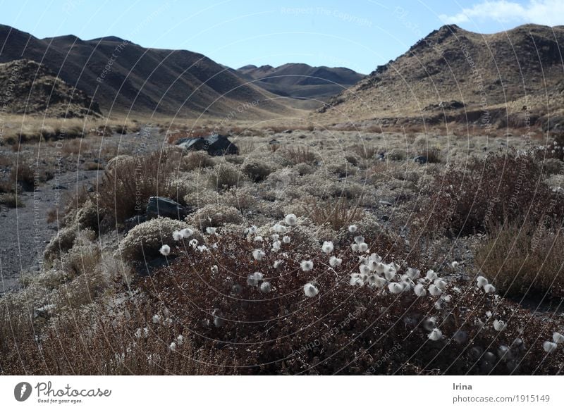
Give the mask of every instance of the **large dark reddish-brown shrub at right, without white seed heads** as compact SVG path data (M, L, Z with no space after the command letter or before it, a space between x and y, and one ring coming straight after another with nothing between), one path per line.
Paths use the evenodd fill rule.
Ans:
M560 194L543 181L541 165L530 155L510 152L470 159L465 168L449 165L430 185L431 195L419 209L415 231L467 235L487 232L506 220L520 222L527 213L533 223L544 212L564 216Z

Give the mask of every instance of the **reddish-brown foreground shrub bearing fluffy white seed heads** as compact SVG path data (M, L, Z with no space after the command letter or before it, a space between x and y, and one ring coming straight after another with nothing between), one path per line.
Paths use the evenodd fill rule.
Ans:
M266 249L269 244L262 246ZM540 325L541 321L472 286L463 287L460 294L451 293L450 287L446 290L452 294L450 304L465 309L436 311L433 297L398 297L367 286L350 286L350 272L358 266L350 247L335 250L343 265L334 271L326 268L326 255L305 255L299 249L289 249L288 254L267 251L261 261L250 263L257 244L240 235L219 237L218 247L209 252L188 250L171 266L143 280L141 289L153 306L150 311L167 306L173 323L197 335L198 347L228 349L233 354L241 367L225 368L223 374L233 370L254 375L559 371L559 361L542 360L544 351L537 339L548 339L552 329L544 326L535 328L534 334L521 334L522 322ZM300 269L300 260L305 258L314 263L312 271ZM283 263L273 268L275 260ZM247 275L256 271L263 274L260 282L270 283L271 292L247 284ZM312 299L303 290L310 281L319 289ZM495 311L496 318L510 318L510 328L496 332L491 327L493 318L486 315L489 310ZM434 315L444 337L437 342L429 340L424 325ZM478 318L489 322L486 328L474 325ZM460 343L451 339L457 331L466 335ZM498 359L496 353L493 362L482 358L488 349L497 352L498 345L510 346L515 337L522 337L529 350L515 348L510 363ZM386 360L380 360L384 354ZM563 351L554 354L561 357Z

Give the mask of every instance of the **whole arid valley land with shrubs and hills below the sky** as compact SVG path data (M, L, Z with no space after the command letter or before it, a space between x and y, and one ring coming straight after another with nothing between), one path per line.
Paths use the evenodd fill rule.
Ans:
M1 30L0 374L563 373L562 27L102 82Z

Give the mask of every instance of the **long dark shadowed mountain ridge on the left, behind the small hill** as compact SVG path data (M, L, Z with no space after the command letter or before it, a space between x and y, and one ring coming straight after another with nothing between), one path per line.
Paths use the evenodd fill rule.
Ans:
M234 112L237 118L263 118L295 112L235 70L190 51L147 49L118 37L37 39L6 25L0 25L0 44L0 63L37 61L90 95L104 115Z

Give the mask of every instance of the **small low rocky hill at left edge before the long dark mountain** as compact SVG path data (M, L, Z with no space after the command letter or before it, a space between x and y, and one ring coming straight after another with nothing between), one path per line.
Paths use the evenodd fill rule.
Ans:
M100 114L98 104L85 92L35 61L0 63L0 90L6 113L66 118Z

